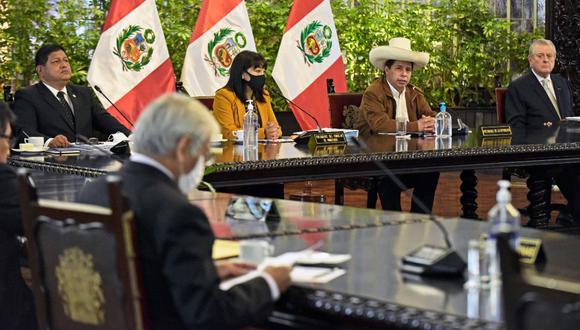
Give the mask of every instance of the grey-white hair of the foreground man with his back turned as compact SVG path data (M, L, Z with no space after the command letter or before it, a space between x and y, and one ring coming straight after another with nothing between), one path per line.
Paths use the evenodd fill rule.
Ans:
M203 104L184 95L170 94L157 98L141 114L133 131L133 147L149 156L167 156L175 150L179 139L188 136L193 155L217 133L219 126Z

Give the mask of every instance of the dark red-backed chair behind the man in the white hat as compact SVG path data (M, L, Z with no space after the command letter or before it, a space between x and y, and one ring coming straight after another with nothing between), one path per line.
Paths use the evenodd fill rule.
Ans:
M358 117L358 107L362 101L362 93L331 93L328 94L330 111L330 126L332 128L354 128ZM350 107L353 106L353 107ZM347 178L334 180L335 204L344 205L344 188L364 189L367 191L367 207L377 205L377 178Z

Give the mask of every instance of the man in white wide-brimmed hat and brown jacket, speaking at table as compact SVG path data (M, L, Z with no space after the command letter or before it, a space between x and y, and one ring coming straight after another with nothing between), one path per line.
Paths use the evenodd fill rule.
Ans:
M411 49L407 38L393 38L388 46L379 46L369 53L371 63L384 75L364 92L356 128L361 135L393 133L396 119L404 118L407 131L435 131L435 112L431 110L423 92L409 83L414 69L429 62L429 54ZM408 187L414 187L411 212L425 213L433 208L439 173L400 175ZM388 178L379 183L379 197L385 210L401 210L401 189ZM421 208L418 199L428 210Z

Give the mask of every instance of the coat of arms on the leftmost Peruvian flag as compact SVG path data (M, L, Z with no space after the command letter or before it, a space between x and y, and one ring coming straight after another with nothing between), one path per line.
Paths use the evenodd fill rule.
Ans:
M117 36L113 54L121 59L123 71L141 71L151 62L153 56L151 45L154 42L155 32L152 29L129 25Z

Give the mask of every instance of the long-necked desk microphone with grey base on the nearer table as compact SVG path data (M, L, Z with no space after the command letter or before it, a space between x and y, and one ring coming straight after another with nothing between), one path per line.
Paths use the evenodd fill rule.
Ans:
M358 138L352 138L351 140L357 147L369 151L366 143L362 142ZM423 211L425 214L429 215L429 220L431 220L437 228L443 234L443 239L445 240L446 248L438 247L433 245L423 245L416 250L413 250L408 255L403 257L403 265L401 270L407 273L413 273L417 275L461 275L466 267L465 261L461 256L453 249L453 244L451 244L451 239L449 238L449 232L443 224L437 220L437 218L432 214L432 212L425 206L422 200L415 197L413 194L408 192L408 187L382 162L373 159L373 163L386 174L392 182L394 182L397 187L401 189L411 200Z

